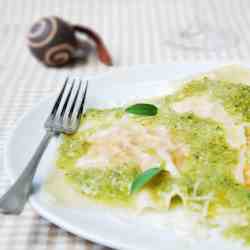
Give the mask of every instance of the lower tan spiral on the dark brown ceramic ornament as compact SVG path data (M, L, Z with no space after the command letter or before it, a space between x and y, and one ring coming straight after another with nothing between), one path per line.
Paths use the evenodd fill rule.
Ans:
M74 48L66 43L49 48L44 57L44 62L51 66L63 65L70 61Z

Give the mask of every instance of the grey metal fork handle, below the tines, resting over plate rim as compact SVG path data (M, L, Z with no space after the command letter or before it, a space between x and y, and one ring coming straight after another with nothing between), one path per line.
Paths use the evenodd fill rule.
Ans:
M40 142L34 155L27 166L10 187L10 189L0 198L0 212L8 214L20 214L29 198L32 190L32 181L36 173L38 164L47 148L50 139L55 135L52 131L47 131Z

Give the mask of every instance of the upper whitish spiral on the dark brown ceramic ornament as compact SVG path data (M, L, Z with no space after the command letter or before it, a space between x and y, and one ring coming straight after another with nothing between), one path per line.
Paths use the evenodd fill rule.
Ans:
M47 45L58 31L57 20L54 17L46 17L37 21L28 34L29 46L41 48Z

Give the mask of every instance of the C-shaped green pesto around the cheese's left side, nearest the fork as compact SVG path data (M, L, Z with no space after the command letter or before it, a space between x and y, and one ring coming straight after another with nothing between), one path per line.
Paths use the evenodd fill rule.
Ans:
M140 173L133 163L124 166L80 169L76 162L91 148L86 139L97 130L108 128L124 115L123 109L90 109L82 117L81 125L91 126L74 135L64 135L58 149L56 165L64 171L66 180L79 192L100 202L129 205L133 197L129 194L130 185Z

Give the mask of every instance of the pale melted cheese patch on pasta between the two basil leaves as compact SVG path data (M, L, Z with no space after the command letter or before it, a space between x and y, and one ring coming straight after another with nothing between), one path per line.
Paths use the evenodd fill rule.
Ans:
M89 152L77 161L79 168L107 167L113 163L119 165L134 162L145 171L165 162L170 173L178 174L170 151L180 148L180 145L171 142L170 135L163 126L147 129L124 116L112 126L98 130L87 140L92 146ZM183 145L181 147L186 151ZM157 150L150 153L153 148Z

